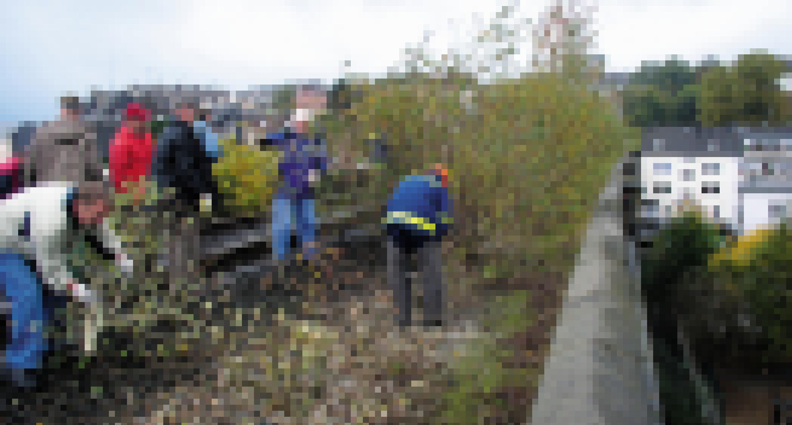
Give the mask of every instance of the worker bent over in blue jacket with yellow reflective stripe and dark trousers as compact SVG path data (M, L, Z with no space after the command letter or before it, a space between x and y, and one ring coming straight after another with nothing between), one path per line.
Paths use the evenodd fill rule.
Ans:
M418 256L423 274L424 325L443 325L443 263L441 241L451 226L448 173L435 164L424 175L407 176L386 204L388 281L401 327L411 324L409 257Z

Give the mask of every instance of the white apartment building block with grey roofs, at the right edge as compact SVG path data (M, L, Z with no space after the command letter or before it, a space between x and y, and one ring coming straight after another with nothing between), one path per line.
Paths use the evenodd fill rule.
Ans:
M792 128L658 127L642 137L649 230L687 200L738 233L792 216Z

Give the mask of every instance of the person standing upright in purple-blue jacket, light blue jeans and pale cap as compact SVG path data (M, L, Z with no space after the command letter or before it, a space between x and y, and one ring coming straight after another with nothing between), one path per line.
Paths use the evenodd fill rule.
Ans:
M268 142L283 152L279 173L283 184L272 199L272 258L285 260L291 248L291 230L296 227L303 245L303 259L317 254L315 188L327 169L326 146L308 134L314 115L324 108L326 95L318 85L301 85L291 128L268 135Z

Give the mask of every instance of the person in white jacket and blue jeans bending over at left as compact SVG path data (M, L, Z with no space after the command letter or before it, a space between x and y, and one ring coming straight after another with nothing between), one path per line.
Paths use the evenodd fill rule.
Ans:
M105 220L110 205L101 182L39 184L0 201L0 294L10 305L11 324L5 364L15 380L28 380L48 349L40 283L85 302L89 316L97 319L97 295L67 267L77 237L87 236L124 273L131 271L131 260ZM94 336L88 324L84 349L90 354Z

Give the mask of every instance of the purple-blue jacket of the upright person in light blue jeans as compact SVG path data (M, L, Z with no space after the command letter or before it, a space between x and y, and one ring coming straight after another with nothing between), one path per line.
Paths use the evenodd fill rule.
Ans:
M267 139L283 152L278 166L284 177L280 195L290 199L313 198L314 184L309 180L309 173L314 172L318 178L327 169L326 146L322 139L307 139L295 133L276 133L268 135Z

